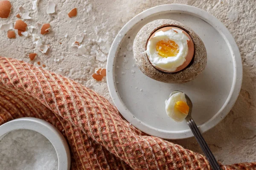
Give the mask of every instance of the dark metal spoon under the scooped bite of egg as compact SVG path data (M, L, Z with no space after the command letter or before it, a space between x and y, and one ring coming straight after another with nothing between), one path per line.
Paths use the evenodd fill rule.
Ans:
M182 91L173 91L170 96L172 96L173 94L179 93L179 92L183 93ZM216 161L215 157L213 156L209 146L205 142L197 125L195 124L194 120L191 117L191 112L192 112L192 107L193 107L192 102L189 99L189 96L187 96L186 94L185 94L185 97L186 97L187 105L189 106L189 114L188 114L188 116L186 116L186 121L187 121L192 133L194 134L195 139L197 140L198 144L200 145L201 149L203 150L204 155L207 157L210 165L212 166L212 169L213 170L221 170L221 167L219 166L219 164Z

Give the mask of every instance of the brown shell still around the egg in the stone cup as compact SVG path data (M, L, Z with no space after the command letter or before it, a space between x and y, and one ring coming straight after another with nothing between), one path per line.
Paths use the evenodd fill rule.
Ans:
M159 32L159 31L165 32L165 31L168 31L168 30L170 30L170 29L172 29L172 28L176 28L176 29L181 30L184 34L186 34L187 37L189 37L189 41L187 41L188 53L187 53L187 55L186 55L186 61L185 61L182 65L180 65L179 67L177 67L177 69L176 69L175 71L166 71L166 70L162 70L161 68L158 68L156 65L153 65L153 64L151 63L150 59L148 58L149 62L150 62L155 68L157 68L157 69L160 70L160 71L166 72L166 73L175 73L175 72L177 72L177 71L180 71L180 70L186 68L186 66L189 65L189 63L191 62L191 60L192 60L193 57L194 57L194 43L193 43L192 38L189 36L188 33L186 33L186 31L184 31L183 29L180 29L180 28L178 28L178 27L168 26L168 27L160 28L160 29L158 29L157 31L155 31L155 32L150 36L150 38L148 39L148 41L150 41L151 38L154 37L154 35L155 35L157 32ZM177 31L175 31L175 32L177 32ZM147 44L148 44L148 42L147 42Z

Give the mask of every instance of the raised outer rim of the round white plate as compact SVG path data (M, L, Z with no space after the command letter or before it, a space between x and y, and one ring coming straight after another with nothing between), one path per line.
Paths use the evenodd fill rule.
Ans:
M230 89L230 94L227 97L224 105L221 109L209 119L207 122L204 122L202 125L198 126L202 133L206 132L207 130L211 129L215 125L217 125L225 116L230 112L233 105L236 102L236 99L239 96L239 92L241 90L242 84L242 61L241 55L239 52L239 48L236 44L236 41L228 31L228 29L219 21L217 18L212 16L211 14L207 13L206 11L196 8L194 6L188 6L183 4L167 4L167 5L160 5L155 6L153 8L149 8L140 14L136 15L132 18L125 26L117 34L116 38L114 39L110 52L108 54L108 61L107 61L107 83L108 89L110 91L111 98L114 99L113 102L116 105L116 108L119 112L124 116L124 118L130 122L132 125L137 127L138 129L142 130L143 132L157 136L163 139L185 139L193 136L191 130L180 130L180 131L167 131L167 130L159 130L155 127L151 127L143 122L140 122L139 119L133 116L133 114L126 108L122 99L119 97L118 92L116 91L116 85L114 80L114 63L116 59L116 52L118 52L119 45L122 42L122 39L125 37L125 34L133 28L137 23L139 23L145 17L149 17L150 15L165 12L165 11L179 11L186 14L192 14L213 27L222 35L226 42L228 42L229 49L233 58L233 82L232 87ZM121 36L120 36L121 35Z

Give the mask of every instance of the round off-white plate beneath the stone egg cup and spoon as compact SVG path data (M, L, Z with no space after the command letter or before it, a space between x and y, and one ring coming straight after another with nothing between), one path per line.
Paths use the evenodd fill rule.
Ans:
M157 19L177 20L192 28L207 49L207 66L191 82L168 84L145 76L134 63L132 44L145 24ZM192 117L205 132L229 113L239 95L242 63L239 49L227 28L199 8L170 4L156 6L131 19L116 36L107 63L108 88L114 104L132 125L153 136L183 139L193 136L185 121L166 115L164 101L174 90L193 102Z

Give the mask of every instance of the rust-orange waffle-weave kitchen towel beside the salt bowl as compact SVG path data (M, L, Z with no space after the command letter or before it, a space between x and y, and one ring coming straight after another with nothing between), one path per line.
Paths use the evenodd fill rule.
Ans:
M51 123L70 145L72 170L209 170L207 159L130 125L107 99L60 75L0 57L0 125L20 117ZM256 170L256 163L221 165Z

